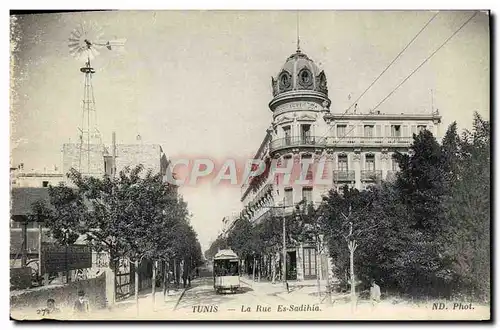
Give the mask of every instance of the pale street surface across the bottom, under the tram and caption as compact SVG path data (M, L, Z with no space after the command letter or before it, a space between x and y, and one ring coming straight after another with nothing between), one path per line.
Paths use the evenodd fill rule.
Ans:
M490 316L487 305L473 305L472 310L455 309L453 302L447 310L435 310L434 301L402 301L388 297L376 307L359 300L355 311L348 300L334 296L318 299L312 283L292 283L287 293L282 283L253 282L242 277L241 288L234 294L216 294L212 277L192 281L192 287L172 291L164 300L157 293L153 305L151 294L139 297L139 314L133 297L111 309L94 310L85 319L93 320L484 320ZM323 286L324 288L324 286ZM182 293L184 292L184 293ZM321 301L321 302L320 302ZM65 313L65 311L67 313ZM16 319L40 319L36 310L12 311ZM52 315L51 315L52 316ZM64 310L56 319L72 319Z

